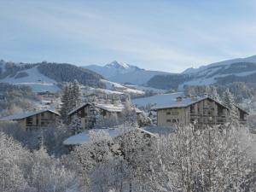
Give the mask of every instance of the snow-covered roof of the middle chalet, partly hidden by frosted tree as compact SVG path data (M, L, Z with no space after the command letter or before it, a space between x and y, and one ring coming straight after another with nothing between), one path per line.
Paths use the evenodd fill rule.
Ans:
M92 105L92 103L90 102L84 103L82 106L78 108L74 108L71 112L68 113L68 115L75 113L77 110L79 110L80 108L84 108L86 105ZM110 113L119 113L119 112L122 112L123 109L125 108L123 104L95 104L95 107L101 108L102 110L106 110ZM132 108L132 109L135 109L136 113L143 113L138 108Z

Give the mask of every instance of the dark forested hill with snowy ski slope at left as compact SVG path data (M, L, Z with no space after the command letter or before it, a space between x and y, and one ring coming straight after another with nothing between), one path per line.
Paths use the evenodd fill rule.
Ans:
M105 88L102 76L82 67L67 63L41 62L35 64L0 61L0 83L24 84L35 92L59 91L58 84L78 80L96 88Z

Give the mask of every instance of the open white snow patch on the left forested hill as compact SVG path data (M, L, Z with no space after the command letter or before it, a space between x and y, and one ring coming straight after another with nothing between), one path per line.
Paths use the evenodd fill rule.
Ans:
M7 77L5 79L0 79L0 82L9 84L28 85L32 88L34 92L57 92L60 90L60 88L57 86L56 81L53 79L49 79L42 73L39 73L37 67L22 70L21 72L27 73L28 76L18 79L15 79L15 77Z

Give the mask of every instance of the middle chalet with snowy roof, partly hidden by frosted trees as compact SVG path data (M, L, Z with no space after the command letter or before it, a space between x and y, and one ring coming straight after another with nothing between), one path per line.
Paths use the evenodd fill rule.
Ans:
M81 119L81 126L83 128L93 128L96 122L96 115L100 115L102 118L111 119L113 117L121 119L121 112L124 110L125 106L123 104L94 104L94 103L84 103L79 108L73 109L68 113L69 122L71 122L75 116ZM137 108L132 108L135 113L143 113ZM96 114L96 110L99 112Z

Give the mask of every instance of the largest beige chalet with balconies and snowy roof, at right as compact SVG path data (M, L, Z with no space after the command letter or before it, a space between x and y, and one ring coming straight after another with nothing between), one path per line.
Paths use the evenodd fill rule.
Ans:
M223 125L227 122L230 109L208 97L178 96L168 106L154 108L157 111L157 125ZM244 122L246 112L239 108L238 119Z

